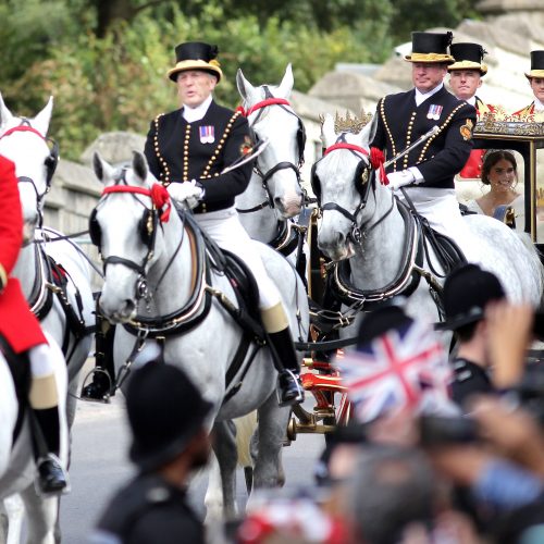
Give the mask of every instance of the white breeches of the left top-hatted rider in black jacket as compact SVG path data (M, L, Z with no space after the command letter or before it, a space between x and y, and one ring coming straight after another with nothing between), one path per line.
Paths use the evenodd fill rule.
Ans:
M240 257L259 285L259 308L267 309L280 304L280 293L270 279L260 255L242 226L234 208L195 214L200 227L221 247Z

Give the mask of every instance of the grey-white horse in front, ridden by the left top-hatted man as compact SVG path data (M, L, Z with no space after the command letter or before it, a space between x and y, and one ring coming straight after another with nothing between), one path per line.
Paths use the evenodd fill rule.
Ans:
M121 172L98 156L94 165L106 188L91 217L90 232L104 261L100 309L118 324L118 380L120 372L127 370L125 361L137 363L138 350L156 343L164 361L181 367L213 403L210 428L214 423L223 504L225 512L232 515L236 510L237 454L230 420L258 410L254 484L270 487L282 483L281 448L289 409L277 405L272 358L267 348L258 349L250 342L240 367L231 367L245 344L244 332L228 310L231 304L237 307L232 284L224 273L210 267L199 230L191 227L189 215L182 218L172 210L168 221L158 217L161 212L153 203L144 156L135 153L132 168ZM258 242L255 249L263 255L270 276L276 279L294 337L305 339L308 307L304 285L276 251ZM249 366L248 356L255 356ZM225 380L231 373L233 380Z

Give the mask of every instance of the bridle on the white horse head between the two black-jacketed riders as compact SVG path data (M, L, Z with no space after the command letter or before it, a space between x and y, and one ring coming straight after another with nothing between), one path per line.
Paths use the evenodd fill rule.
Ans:
M279 106L282 108L282 110L286 111L290 115L294 115L298 120L298 131L297 131L297 145L298 145L298 164L294 164L293 162L289 161L282 161L272 166L270 170L267 172L262 172L262 170L259 168L259 159L257 159L256 164L254 166L255 173L261 178L262 181L262 188L267 193L268 199L260 205L254 207L254 208L248 208L240 210L238 209L238 213L251 213L254 211L259 211L262 210L263 208L270 207L272 209L275 208L274 200L272 196L270 195L270 189L269 189L269 181L270 178L276 173L280 172L281 170L293 170L295 172L297 183L301 187L301 182L300 182L300 169L302 168L304 164L304 148L306 144L306 133L304 128L302 121L300 118L293 111L293 108L289 103L288 100L285 98L275 98L272 92L270 91L270 88L268 85L263 85L264 89L264 100L257 102L256 104L251 106L248 110L244 110L243 108L239 108L239 111L243 112L243 114L248 118L251 115L251 113L258 111L257 116L252 121L252 123L249 125L249 128L251 129L251 133L254 134L254 137L258 139L258 136L254 129L254 126L259 122L263 111L265 108L270 108L272 106Z

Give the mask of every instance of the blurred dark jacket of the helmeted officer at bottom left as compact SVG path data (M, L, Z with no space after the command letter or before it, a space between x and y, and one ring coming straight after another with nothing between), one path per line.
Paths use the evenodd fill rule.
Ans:
M89 544L203 544L202 523L185 493L153 474L138 475L108 505Z

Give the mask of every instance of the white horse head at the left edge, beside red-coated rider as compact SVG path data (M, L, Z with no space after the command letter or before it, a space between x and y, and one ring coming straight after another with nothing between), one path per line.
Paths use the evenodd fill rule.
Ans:
M14 115L0 95L0 154L15 164L25 222L25 237L34 235L41 223L44 197L59 160L55 143L47 138L53 98L35 118ZM51 147L50 147L51 146Z

